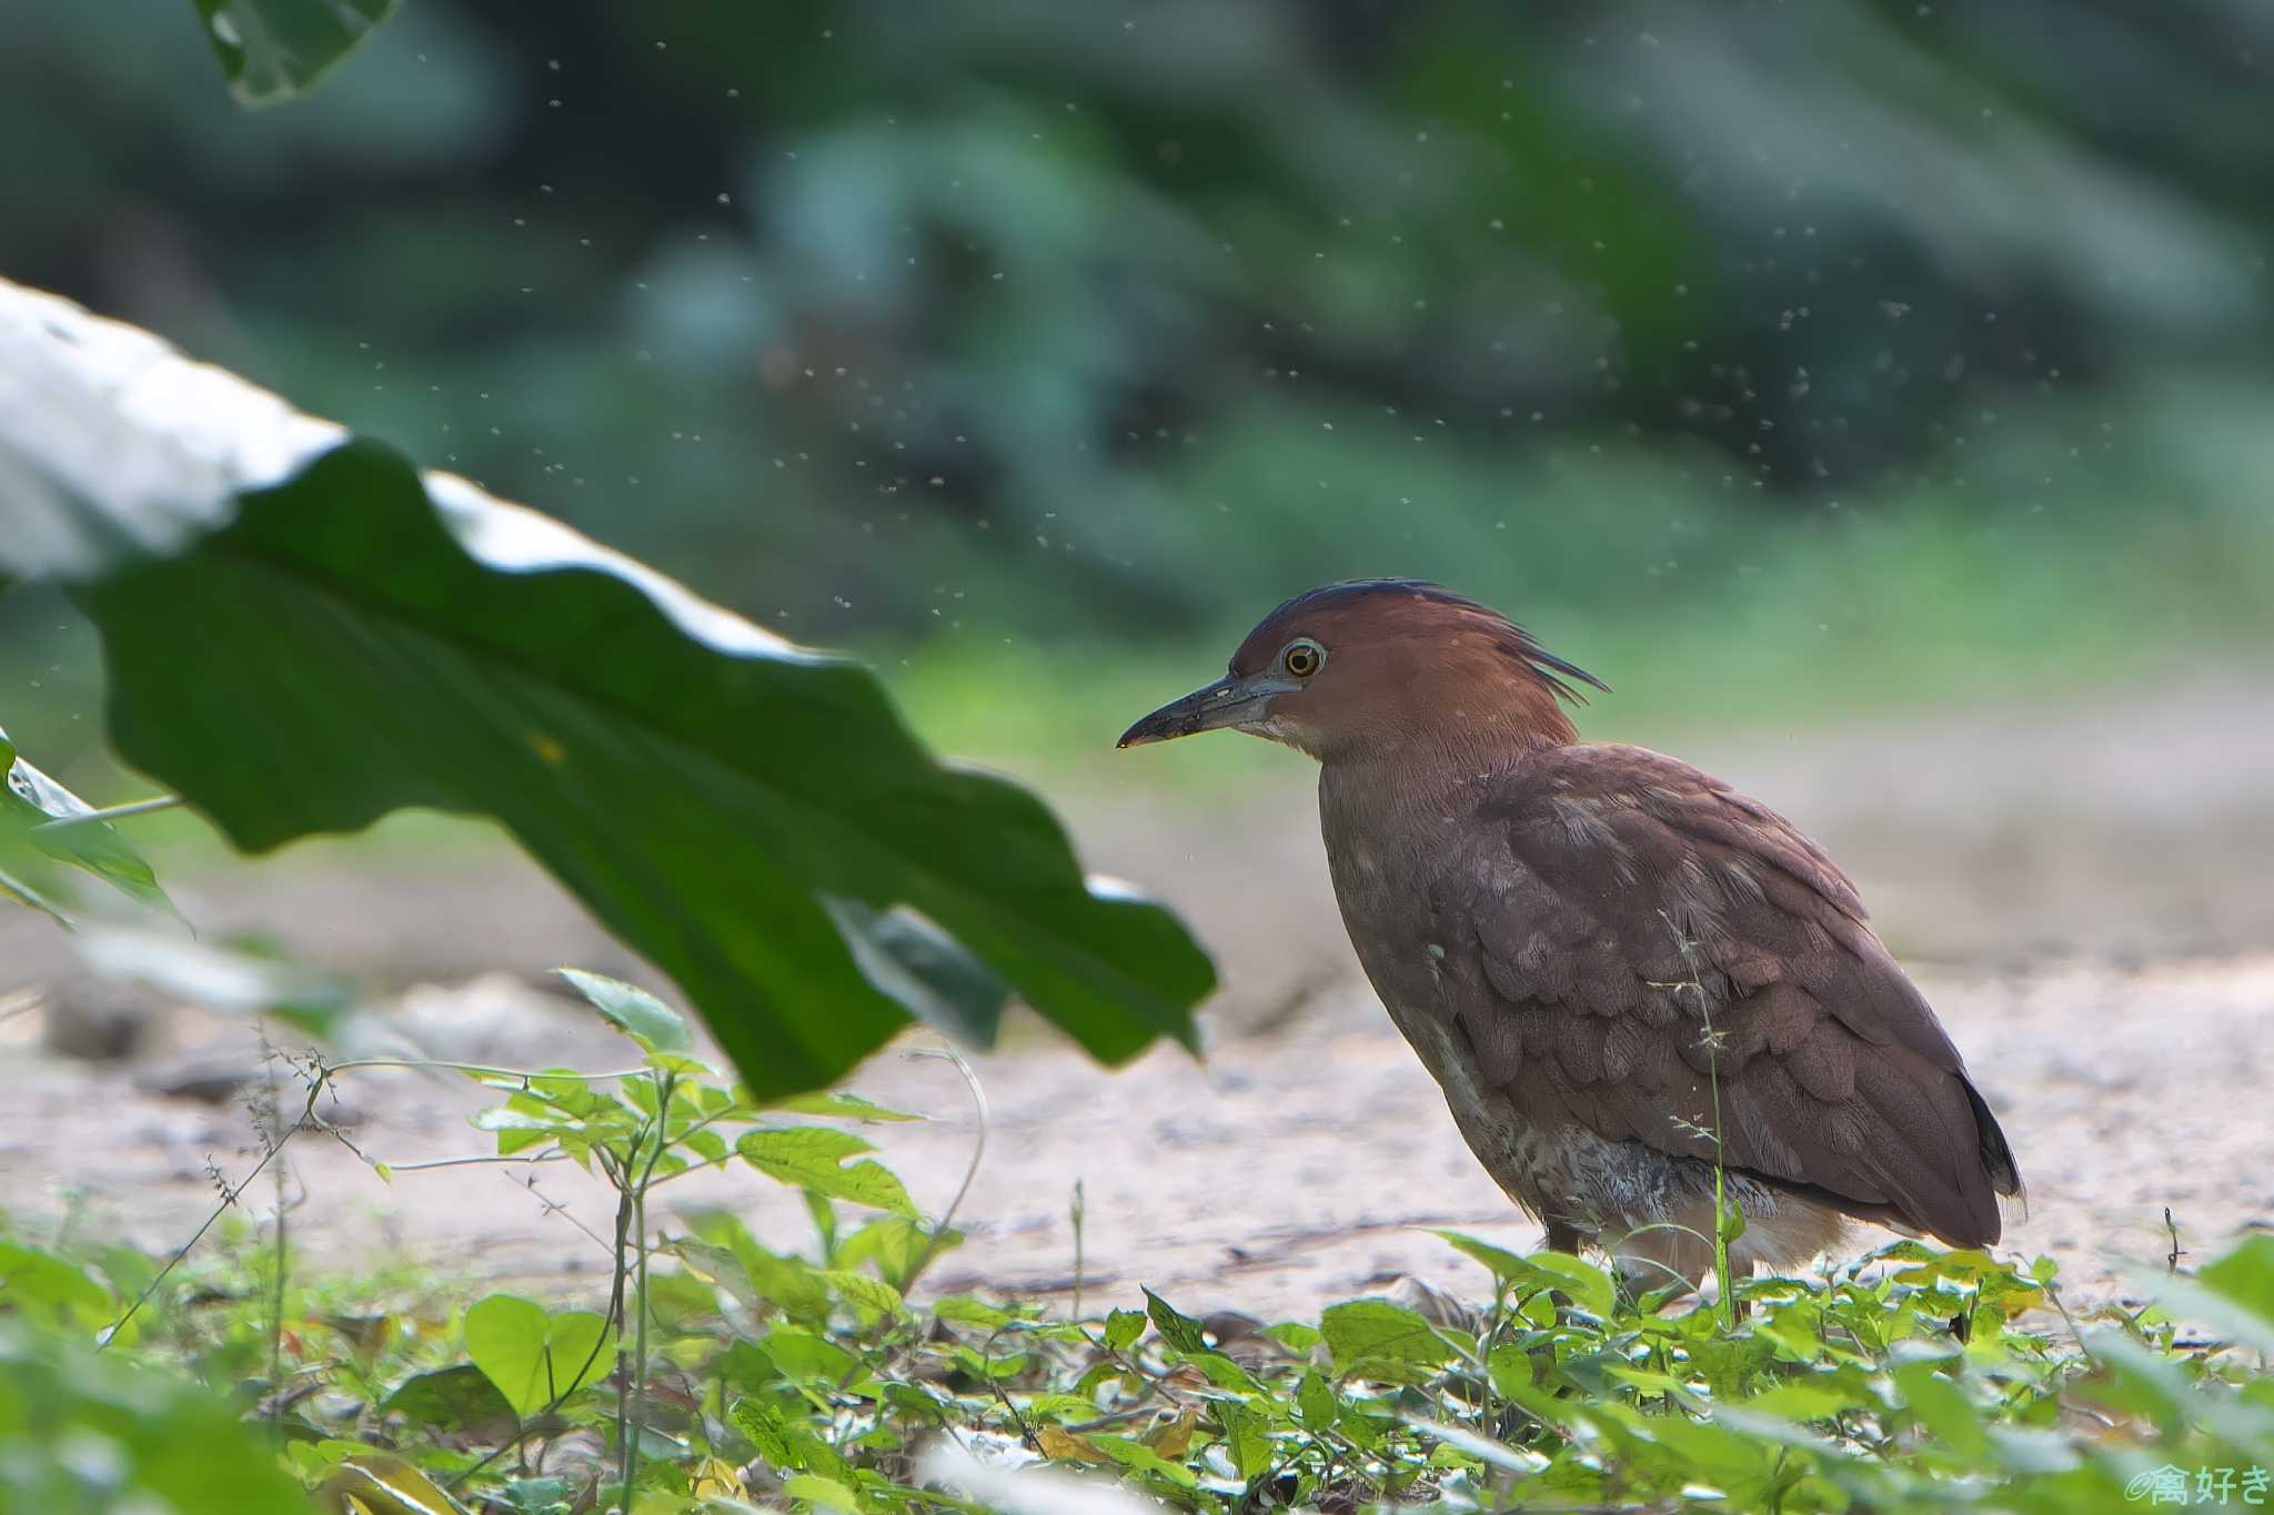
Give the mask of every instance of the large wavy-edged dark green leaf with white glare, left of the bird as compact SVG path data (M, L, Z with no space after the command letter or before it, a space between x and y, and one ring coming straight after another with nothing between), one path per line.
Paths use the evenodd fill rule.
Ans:
M1214 977L1182 924L1085 881L1030 793L926 754L869 670L337 436L0 284L0 572L77 581L121 754L239 847L493 815L762 1099L912 1011L989 1029L989 972L1101 1058L1192 1043ZM989 972L944 972L948 938Z

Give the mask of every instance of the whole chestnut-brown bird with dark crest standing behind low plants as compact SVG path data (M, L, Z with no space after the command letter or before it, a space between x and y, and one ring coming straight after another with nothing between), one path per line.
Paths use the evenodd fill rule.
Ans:
M1699 1279L1717 1142L1740 1265L1844 1217L1994 1242L2006 1136L1849 879L1690 763L1580 743L1574 684L1603 688L1446 588L1330 584L1121 745L1230 727L1319 759L1358 961L1551 1247Z

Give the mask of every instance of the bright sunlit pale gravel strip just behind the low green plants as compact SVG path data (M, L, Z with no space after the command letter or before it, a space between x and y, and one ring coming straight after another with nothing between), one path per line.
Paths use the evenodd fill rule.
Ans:
M2083 1297L2108 1297L2163 1267L2163 1206L2201 1256L2242 1229L2274 1229L2274 956L1926 988L2028 1177L2010 1247L2058 1256ZM421 993L405 1018L453 1056L621 1061L573 1008L512 981ZM184 1015L175 1033L200 1043L216 1029ZM0 1049L11 1070L0 1202L30 1220L77 1208L77 1224L152 1249L189 1236L211 1204L207 1161L248 1163L243 1111L150 1095L127 1068L45 1058L27 1040L16 1024ZM1128 1301L1151 1283L1187 1308L1283 1315L1403 1272L1476 1290L1474 1265L1421 1227L1537 1240L1362 990L1337 990L1301 1029L1226 1040L1205 1065L1164 1049L1112 1074L1037 1047L980 1058L978 1072L994 1118L960 1213L971 1240L944 1258L939 1288L1069 1295L1078 1181L1089 1299ZM944 1206L978 1133L955 1070L887 1052L853 1086L937 1118L873 1138L919 1204ZM487 1149L466 1124L475 1097L453 1083L368 1074L346 1104L355 1140L393 1163ZM609 1204L571 1167L543 1170L543 1202L514 1188L518 1174L398 1172L389 1186L341 1147L307 1140L293 1149L293 1229L343 1265L409 1252L546 1292L589 1288L603 1254L543 1202L596 1231ZM255 1213L271 1204L266 1186L248 1195ZM766 1181L705 1177L673 1195L675 1208L703 1204L735 1206L778 1242L803 1240L800 1206Z

